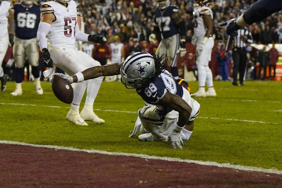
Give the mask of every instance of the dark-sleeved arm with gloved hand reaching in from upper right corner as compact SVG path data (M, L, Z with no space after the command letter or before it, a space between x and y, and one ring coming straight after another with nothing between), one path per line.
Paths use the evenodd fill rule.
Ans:
M278 3L276 0L259 0L252 4L239 17L221 23L219 26L226 26L226 33L228 35L237 36L238 29L262 21L271 14L281 10L281 2Z

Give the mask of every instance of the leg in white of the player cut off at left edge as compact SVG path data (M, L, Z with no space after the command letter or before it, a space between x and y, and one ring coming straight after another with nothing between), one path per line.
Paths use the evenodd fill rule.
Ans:
M3 68L2 68L2 62L5 57L7 48L9 46L9 36L8 33L5 34L0 38L0 80L1 80L1 91L6 90L6 82L8 80L8 75L4 74Z

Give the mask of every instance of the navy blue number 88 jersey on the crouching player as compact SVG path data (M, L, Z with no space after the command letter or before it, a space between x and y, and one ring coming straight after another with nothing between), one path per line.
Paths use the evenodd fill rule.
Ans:
M183 89L182 86L177 84L172 75L165 70L162 72L154 82L150 83L150 85L146 88L141 88L136 90L137 93L142 97L142 99L149 103L156 105L156 103L163 98L166 92L178 95L182 98ZM160 105L157 106L158 115L166 115L171 112L171 108L163 107Z

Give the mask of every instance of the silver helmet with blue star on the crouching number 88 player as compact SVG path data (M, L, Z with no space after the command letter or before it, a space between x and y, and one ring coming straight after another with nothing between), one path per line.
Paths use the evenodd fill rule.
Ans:
M150 53L136 52L128 56L120 68L121 83L127 89L141 88L145 80L152 78L155 60Z

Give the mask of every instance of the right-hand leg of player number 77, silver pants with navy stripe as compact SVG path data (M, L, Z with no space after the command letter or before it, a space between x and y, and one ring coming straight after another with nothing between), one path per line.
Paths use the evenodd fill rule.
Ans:
M170 64L170 70L172 76L178 78L178 69L177 69L177 59L178 59L178 48L179 48L179 34L173 35L168 38L169 42L169 53L168 53L168 64Z

